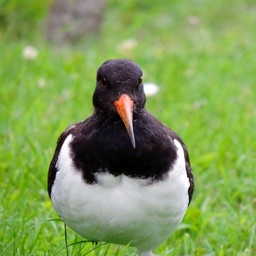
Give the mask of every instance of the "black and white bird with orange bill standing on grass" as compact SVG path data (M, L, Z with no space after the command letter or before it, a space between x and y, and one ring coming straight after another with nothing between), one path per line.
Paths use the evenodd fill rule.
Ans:
M130 59L98 68L93 113L60 135L48 193L66 225L88 241L151 256L181 223L194 178L182 139L147 112L142 76Z

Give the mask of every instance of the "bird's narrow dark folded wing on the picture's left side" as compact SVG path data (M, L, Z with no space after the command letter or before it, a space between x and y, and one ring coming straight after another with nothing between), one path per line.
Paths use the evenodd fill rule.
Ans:
M77 130L77 128L82 124L82 122L79 123L75 123L70 125L59 137L58 141L57 141L57 147L55 149L52 161L50 163L49 166L49 171L48 171L48 194L49 197L51 197L51 191L52 191L52 185L54 183L55 180L55 176L57 173L57 168L56 168L56 163L58 161L58 157L59 157L59 153L61 150L61 147L64 143L64 141L66 140L66 138L68 137L69 134L73 133L75 130Z

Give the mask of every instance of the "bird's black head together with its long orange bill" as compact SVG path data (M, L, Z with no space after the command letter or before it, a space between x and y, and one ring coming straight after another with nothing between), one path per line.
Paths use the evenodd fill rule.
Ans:
M140 67L131 60L108 60L98 69L93 94L96 111L119 114L134 148L133 113L143 109L146 102L142 74Z

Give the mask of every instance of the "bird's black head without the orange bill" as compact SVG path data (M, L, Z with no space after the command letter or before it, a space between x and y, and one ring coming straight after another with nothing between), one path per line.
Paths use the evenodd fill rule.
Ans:
M115 111L114 101L122 94L130 96L134 111L144 107L146 97L142 84L142 70L129 59L105 61L97 72L97 84L93 95L96 110Z

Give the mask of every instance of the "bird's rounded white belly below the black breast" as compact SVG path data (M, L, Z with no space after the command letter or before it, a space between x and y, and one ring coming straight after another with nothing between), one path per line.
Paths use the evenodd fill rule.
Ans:
M74 231L88 240L129 244L140 251L164 242L181 222L188 206L189 181L184 152L178 141L178 158L164 181L96 176L87 184L75 170L69 143L64 142L51 199L55 210Z

